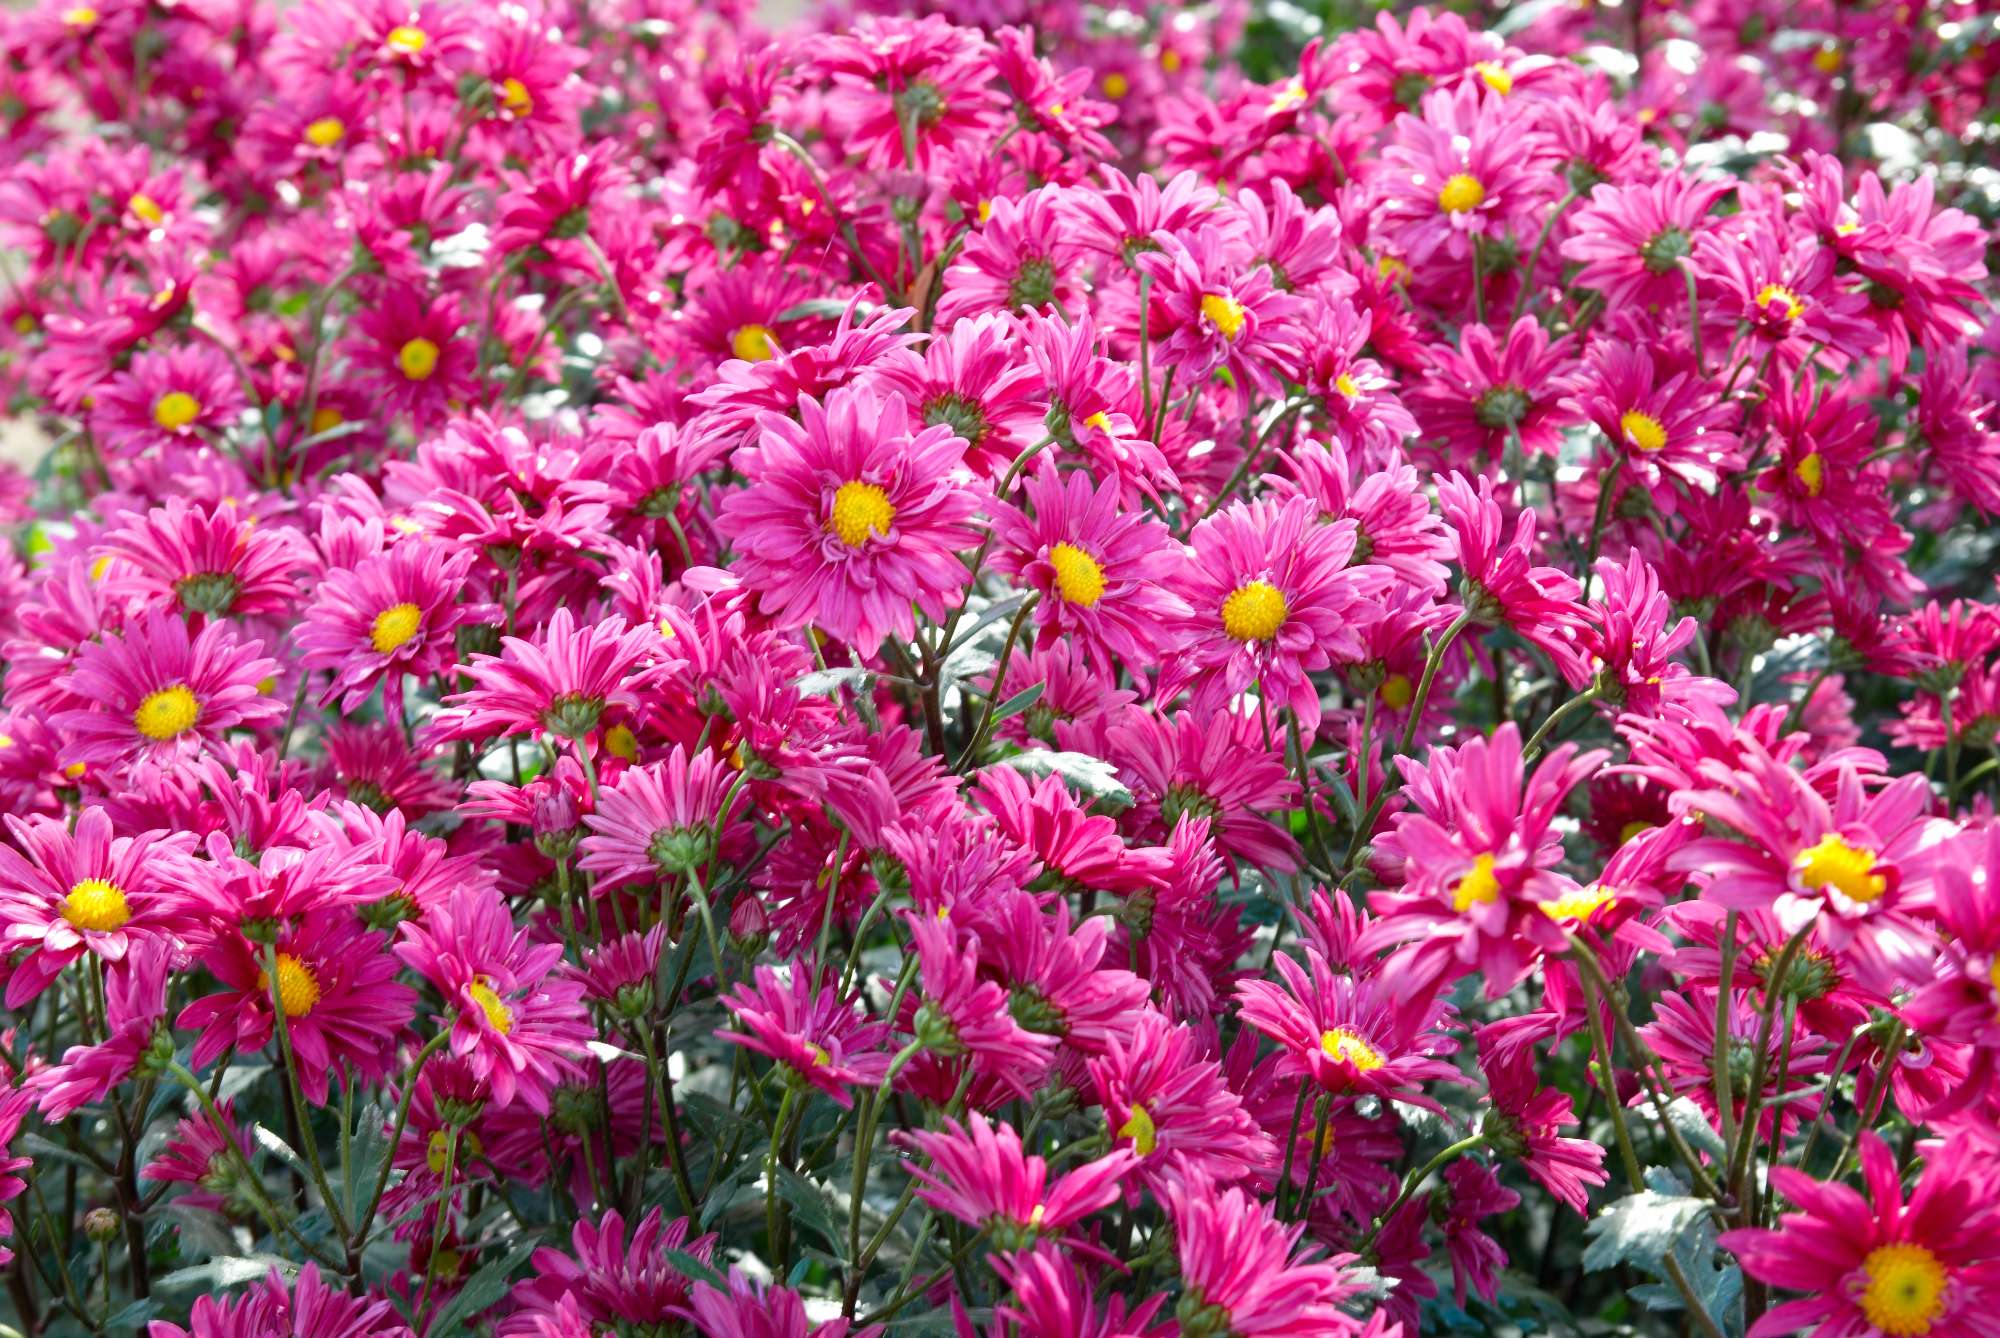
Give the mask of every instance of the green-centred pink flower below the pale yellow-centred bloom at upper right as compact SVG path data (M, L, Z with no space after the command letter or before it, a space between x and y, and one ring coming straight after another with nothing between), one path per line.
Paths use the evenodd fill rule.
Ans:
M1570 336L1550 340L1534 316L1522 316L1506 344L1492 328L1468 324L1458 348L1434 348L1430 374L1408 400L1426 436L1500 462L1514 440L1526 454L1558 454L1562 430L1576 422L1574 390Z

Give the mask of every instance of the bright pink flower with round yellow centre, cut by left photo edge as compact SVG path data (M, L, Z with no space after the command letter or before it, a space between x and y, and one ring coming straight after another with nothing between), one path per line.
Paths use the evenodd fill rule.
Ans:
M6 1006L20 1008L86 952L108 964L186 928L176 894L194 848L190 832L112 836L110 816L84 808L76 830L54 818L8 818L0 846L0 950L14 958Z

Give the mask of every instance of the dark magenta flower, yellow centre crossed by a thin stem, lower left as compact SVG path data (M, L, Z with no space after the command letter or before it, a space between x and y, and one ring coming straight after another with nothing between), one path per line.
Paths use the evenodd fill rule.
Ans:
M194 1066L204 1068L228 1050L256 1054L268 1046L276 992L298 1086L314 1106L326 1104L330 1080L346 1066L382 1080L416 1008L416 990L398 984L384 938L344 910L310 912L278 934L276 990L264 950L238 932L216 934L200 960L222 990L174 1018L176 1028L202 1034Z

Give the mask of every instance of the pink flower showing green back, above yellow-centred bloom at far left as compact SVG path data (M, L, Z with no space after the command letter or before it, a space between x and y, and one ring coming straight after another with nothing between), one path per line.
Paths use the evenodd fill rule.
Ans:
M212 618L288 610L302 564L292 530L260 526L234 506L168 498L110 530L102 554L120 560L118 584L144 600Z

